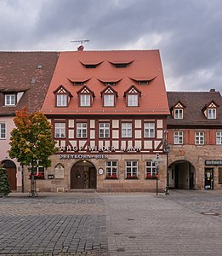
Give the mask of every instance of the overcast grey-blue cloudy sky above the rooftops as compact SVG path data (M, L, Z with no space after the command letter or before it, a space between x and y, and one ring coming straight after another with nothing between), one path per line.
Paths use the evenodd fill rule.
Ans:
M0 50L160 49L167 90L222 92L221 0L0 0Z

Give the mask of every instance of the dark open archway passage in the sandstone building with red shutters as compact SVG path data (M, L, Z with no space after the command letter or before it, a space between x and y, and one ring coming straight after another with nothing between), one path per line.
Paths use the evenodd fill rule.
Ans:
M170 165L169 188L194 189L195 167L187 160L177 160Z

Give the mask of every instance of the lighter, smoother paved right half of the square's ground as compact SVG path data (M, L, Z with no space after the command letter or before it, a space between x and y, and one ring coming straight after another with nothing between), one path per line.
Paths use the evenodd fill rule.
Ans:
M105 194L110 255L222 255L222 191Z

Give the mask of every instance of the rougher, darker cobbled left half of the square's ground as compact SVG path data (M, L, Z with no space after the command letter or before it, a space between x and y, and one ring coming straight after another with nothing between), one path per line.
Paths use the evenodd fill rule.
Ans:
M0 198L0 255L109 255L96 193Z

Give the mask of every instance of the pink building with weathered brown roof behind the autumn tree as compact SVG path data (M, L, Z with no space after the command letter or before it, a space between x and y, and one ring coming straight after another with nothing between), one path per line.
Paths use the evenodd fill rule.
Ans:
M59 54L56 52L0 52L0 162L7 168L12 190L22 188L22 170L8 150L16 110L39 110ZM28 189L28 188L27 188Z

